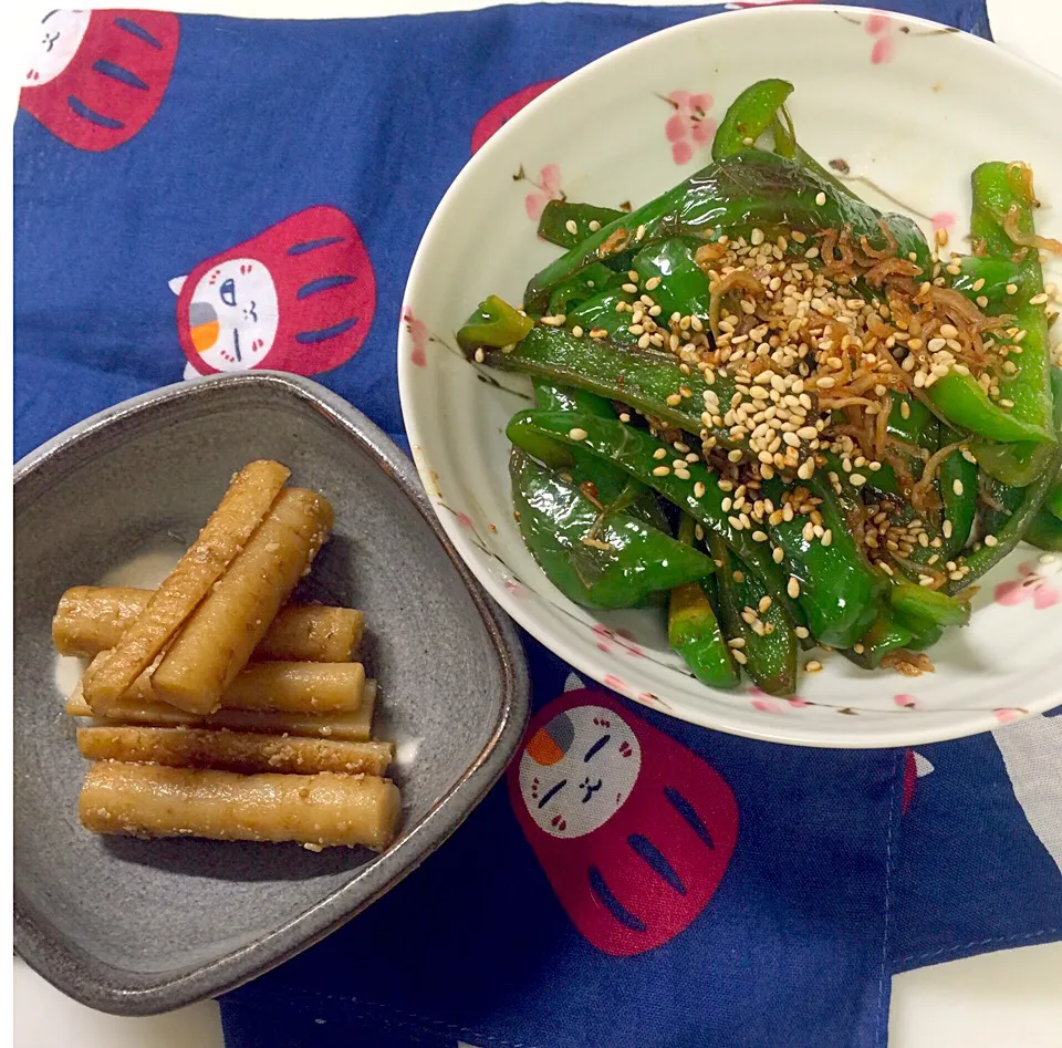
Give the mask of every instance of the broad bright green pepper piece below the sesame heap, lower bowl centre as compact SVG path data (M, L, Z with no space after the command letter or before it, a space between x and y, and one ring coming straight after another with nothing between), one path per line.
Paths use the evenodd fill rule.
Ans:
M888 581L876 572L855 543L830 483L818 474L805 480L812 495L822 499L819 512L832 540L823 546L816 538L804 538L809 518L770 527L774 546L785 552L790 575L800 583L798 604L808 618L812 635L822 644L851 647L867 631L877 614ZM775 506L782 505L784 486L770 480L761 487Z

